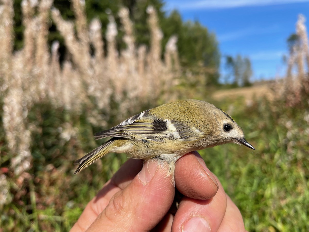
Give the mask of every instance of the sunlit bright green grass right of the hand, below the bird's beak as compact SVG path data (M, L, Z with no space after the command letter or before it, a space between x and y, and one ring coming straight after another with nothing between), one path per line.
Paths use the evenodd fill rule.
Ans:
M248 108L241 100L217 105L231 104L256 151L234 144L208 148L201 151L206 165L239 207L248 231L308 231L308 107L266 99Z

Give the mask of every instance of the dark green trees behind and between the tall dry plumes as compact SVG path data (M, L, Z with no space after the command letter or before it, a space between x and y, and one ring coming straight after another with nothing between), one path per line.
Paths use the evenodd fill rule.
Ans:
M22 0L14 1L14 31L15 31L15 49L23 47L23 26L22 26ZM146 24L148 14L146 9L148 6L153 6L159 18L159 26L162 28L163 41L162 50L164 53L165 45L172 35L178 37L177 47L179 48L180 64L190 71L196 70L196 67L206 67L207 71L203 72L203 79L206 84L218 85L219 74L218 68L220 64L220 53L218 49L218 42L213 33L209 32L206 27L199 22L183 22L178 11L172 11L167 14L163 10L164 2L162 0L116 0L116 1L96 1L85 0L86 15L88 22L93 18L98 18L102 24L102 34L106 34L108 25L108 14L111 13L115 17L118 26L121 26L121 20L118 11L121 7L129 9L130 19L134 24L137 47L140 45L150 45L150 30ZM73 20L74 12L70 6L70 1L54 0L53 6L59 9L61 16L65 20ZM123 31L119 31L116 37L116 45L118 49L123 49L126 45L122 40ZM60 42L60 59L65 58L67 52L64 44L64 39L56 29L53 21L49 22L49 45L53 41ZM104 38L105 50L106 38ZM195 71L196 72L196 71ZM205 85L204 85L205 86Z

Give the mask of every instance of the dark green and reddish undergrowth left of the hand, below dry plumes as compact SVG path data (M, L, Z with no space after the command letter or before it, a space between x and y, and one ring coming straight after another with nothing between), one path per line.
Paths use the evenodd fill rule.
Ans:
M0 133L0 173L2 168L8 168L6 175L13 199L2 208L0 228L4 231L69 231L84 203L91 200L126 161L125 154L117 154L117 157L110 154L103 161L108 165L100 161L82 176L73 175L74 160L99 145L93 140L93 130L98 129L87 121L87 112L86 106L81 115L55 109L49 103L32 107L28 114L32 127L32 167L22 178L13 175L9 165L13 154L6 148L4 131ZM0 116L2 123L2 111ZM77 128L78 134L67 141L62 133L68 123Z

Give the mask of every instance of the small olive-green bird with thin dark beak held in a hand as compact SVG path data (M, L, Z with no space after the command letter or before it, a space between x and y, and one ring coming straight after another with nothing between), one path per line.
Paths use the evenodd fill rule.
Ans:
M129 153L135 159L167 161L169 174L184 154L221 144L243 144L255 150L243 130L226 112L199 100L176 101L145 110L116 127L95 134L95 140L112 137L81 159L74 174L104 155Z

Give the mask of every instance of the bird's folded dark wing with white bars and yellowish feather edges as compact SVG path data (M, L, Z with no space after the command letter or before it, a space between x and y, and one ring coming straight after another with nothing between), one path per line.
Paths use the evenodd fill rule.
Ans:
M193 140L198 138L198 133L201 132L196 128L190 128L184 123L169 120L168 118L157 118L150 113L150 110L146 110L128 118L116 127L95 134L95 140L106 137L141 140Z

